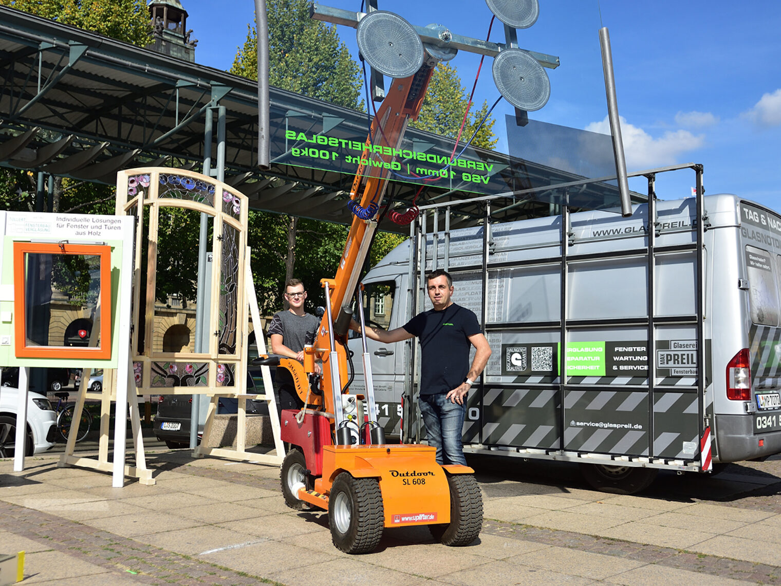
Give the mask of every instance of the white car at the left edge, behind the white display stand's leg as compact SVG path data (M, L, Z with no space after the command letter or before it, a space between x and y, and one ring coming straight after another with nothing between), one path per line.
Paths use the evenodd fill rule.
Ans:
M0 458L12 458L16 442L16 408L19 389L0 386ZM54 445L57 415L44 395L27 393L27 444L25 456L39 454Z

